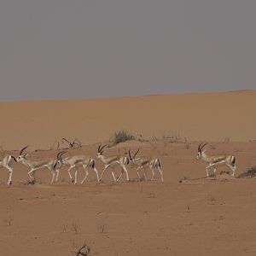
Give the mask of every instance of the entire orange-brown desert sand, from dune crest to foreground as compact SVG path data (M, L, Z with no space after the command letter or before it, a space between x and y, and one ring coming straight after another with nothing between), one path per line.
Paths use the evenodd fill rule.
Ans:
M113 183L106 172L73 185L67 167L50 184L47 169L30 184L28 168L14 164L13 184L0 169L0 255L76 255L84 243L88 255L255 255L256 179L238 178L256 166L256 91L138 96L116 99L1 102L0 143L9 154L27 144L28 158L55 156L50 145L61 137L79 138L82 148L67 155L96 157L99 143L125 129L137 139L108 148L106 155L156 156L157 175L137 179L128 165ZM207 154L236 155L236 175L227 166L207 177L207 164L196 160L198 144ZM67 144L61 143L61 148ZM102 173L103 165L96 160ZM115 170L117 175L120 170ZM84 170L79 168L79 181ZM81 255L81 254L80 254Z

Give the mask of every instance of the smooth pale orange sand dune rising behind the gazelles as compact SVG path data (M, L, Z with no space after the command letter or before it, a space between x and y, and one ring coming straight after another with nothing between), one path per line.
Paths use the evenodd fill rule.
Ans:
M0 103L3 148L49 148L55 139L83 144L125 129L144 138L246 142L256 139L256 90L110 99Z

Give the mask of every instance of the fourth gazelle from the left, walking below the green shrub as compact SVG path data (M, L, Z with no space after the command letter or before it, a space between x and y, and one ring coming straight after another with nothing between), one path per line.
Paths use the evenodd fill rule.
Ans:
M126 173L126 178L127 178L127 181L130 181L129 179L129 175L128 175L128 171L125 167L125 165L129 164L129 159L126 157L126 156L123 156L123 155L113 155L113 156L110 156L110 157L106 157L104 156L104 150L103 148L107 147L107 145L99 145L98 147L98 152L97 152L97 158L99 158L100 160L102 160L103 164L104 164L104 170L102 172L102 175L100 177L100 181L102 180L102 176L104 174L104 172L108 169L108 167L110 167L112 169L111 173L112 173L112 176L113 176L113 181L114 182L118 182L120 177L122 177L122 174L125 172ZM115 166L120 166L121 167L121 174L120 176L116 179L116 177L114 176L114 173L113 173L113 168Z

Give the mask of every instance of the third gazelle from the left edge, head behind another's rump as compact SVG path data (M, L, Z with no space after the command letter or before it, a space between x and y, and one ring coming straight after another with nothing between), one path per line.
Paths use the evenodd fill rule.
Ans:
M84 171L85 171L85 177L82 180L81 184L84 183L84 180L89 175L87 167L91 167L93 169L93 171L96 172L97 182L99 182L99 174L98 174L98 171L96 169L95 160L91 157L88 157L86 155L74 155L74 156L62 159L62 157L60 156L57 165L58 165L58 169L61 168L61 166L69 166L67 172L68 172L68 175L69 175L69 177L71 178L71 180L74 184L77 183L77 175L78 175L79 165L83 166ZM71 169L73 169L73 168L75 168L75 170L76 170L74 180L73 180L73 177L71 176L71 173L70 173Z

